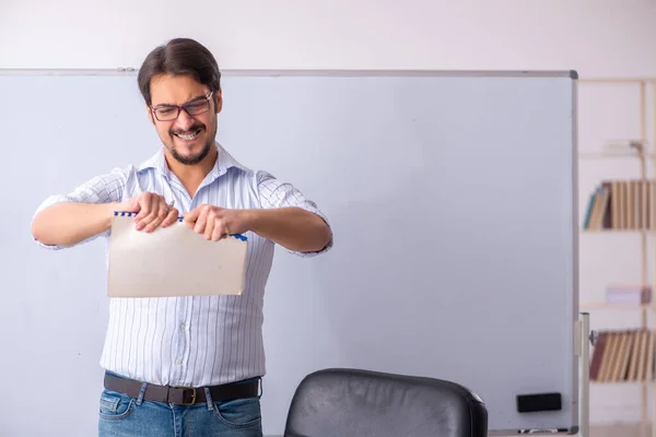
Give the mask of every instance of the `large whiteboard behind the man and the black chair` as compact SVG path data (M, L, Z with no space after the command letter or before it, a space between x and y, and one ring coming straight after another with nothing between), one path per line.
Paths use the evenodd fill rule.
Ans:
M160 142L134 71L2 73L0 435L89 436L105 241L51 252L30 222L48 194ZM277 251L265 434L282 434L305 375L333 366L462 383L484 400L491 434L576 432L576 82L569 71L224 72L219 141L294 184L335 232L321 257ZM563 410L518 413L516 395L535 392L562 393Z

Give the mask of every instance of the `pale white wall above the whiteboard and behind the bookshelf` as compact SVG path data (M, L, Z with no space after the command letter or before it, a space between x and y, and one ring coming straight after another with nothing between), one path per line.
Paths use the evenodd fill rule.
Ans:
M654 0L130 3L0 0L0 68L138 68L155 45L191 36L224 69L575 69L582 78L656 76ZM637 134L630 93L585 86L582 149L598 147L608 135ZM599 93L606 93L602 104ZM582 199L598 177L625 175L628 165L583 163ZM604 238L582 236L582 300L599 298L608 280L635 279L637 240ZM639 321L630 312L593 314L595 328ZM594 422L640 416L636 387L595 386L591 394Z

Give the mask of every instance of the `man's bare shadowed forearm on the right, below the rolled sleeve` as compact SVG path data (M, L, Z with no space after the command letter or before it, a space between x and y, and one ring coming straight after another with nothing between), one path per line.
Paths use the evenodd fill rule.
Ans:
M250 229L290 250L318 251L330 240L330 228L301 208L251 210Z

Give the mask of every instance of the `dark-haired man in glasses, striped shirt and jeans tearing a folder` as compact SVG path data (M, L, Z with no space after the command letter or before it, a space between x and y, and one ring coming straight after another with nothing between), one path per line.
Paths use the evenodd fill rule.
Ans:
M34 238L52 249L108 237L114 211L138 212L141 232L181 214L211 240L248 236L241 296L110 300L101 436L261 436L262 299L273 246L314 256L332 245L315 203L216 143L220 79L214 57L195 40L155 48L138 82L163 147L46 199L34 216Z

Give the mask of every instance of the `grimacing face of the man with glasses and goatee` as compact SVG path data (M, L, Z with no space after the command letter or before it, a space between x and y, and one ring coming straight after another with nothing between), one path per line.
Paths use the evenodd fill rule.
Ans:
M181 164L200 163L214 144L216 137L216 114L221 110L221 92L214 92L187 75L157 75L151 81L151 106L148 108L157 134L171 155ZM209 99L208 99L209 98ZM189 109L177 111L175 106ZM164 120L164 121L162 121Z

